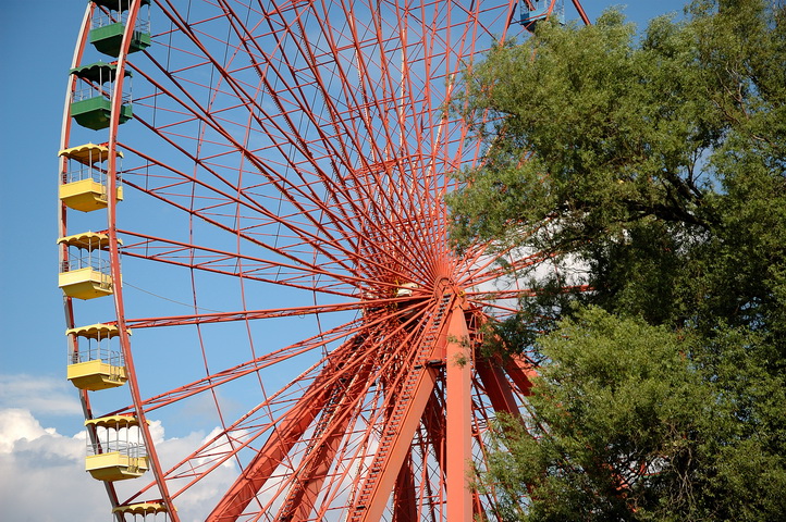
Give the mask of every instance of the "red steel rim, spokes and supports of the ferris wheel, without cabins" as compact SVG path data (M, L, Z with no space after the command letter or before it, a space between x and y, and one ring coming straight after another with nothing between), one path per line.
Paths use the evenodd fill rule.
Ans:
M125 496L106 481L115 518L165 512L180 520L179 499L232 463L241 472L207 520L329 520L339 517L335 511L353 521L446 520L450 513L451 521L468 522L484 513L489 499L468 476L472 462L483 459L486 424L494 412L520 417L533 372L524 359L500 361L480 353L481 324L514 312L511 300L529 293L517 283L505 289L489 285L507 273L494 264L499 257L506 259L507 270L544 258L537 252L490 256L484 245L463 257L450 249L442 197L454 182L446 174L481 161L482 151L467 145L466 127L444 105L464 60L516 27L517 2L423 2L418 12L384 2L397 20L373 15L361 24L353 7L339 1L293 0L266 8L217 0L205 2L212 14L189 18L176 2L162 0L152 8L169 28L153 41L168 47L167 60L179 57L172 62L144 49L138 53L144 58L132 60L136 21L147 3L120 3L124 32L113 63L120 73L106 129L105 234L113 318L105 323L116 327L131 400L101 414L136 420L152 481ZM551 13L555 1L546 3ZM579 2L573 3L588 22ZM364 9L374 8L382 3ZM86 55L91 18L107 11L88 5L72 69ZM249 14L263 16L250 26ZM324 16L321 32L318 15ZM340 27L331 26L339 17ZM407 20L417 21L417 30ZM213 25L225 35L211 34ZM413 42L414 35L420 40ZM182 47L173 42L179 38ZM216 49L222 44L225 55L219 58ZM248 63L236 65L236 57ZM134 125L155 141L121 140L126 71L148 86L135 99L144 110ZM206 72L214 77L198 83L195 78ZM74 146L78 134L70 113L76 82L72 76L62 150ZM202 95L208 96L200 101ZM237 115L246 123L238 123ZM262 145L253 146L255 140ZM122 225L127 221L118 216L121 150L139 160L123 171L122 187L151 207L187 216L180 237L159 235L156 226ZM60 172L66 169L62 158ZM61 204L61 237L67 236L72 215ZM223 238L211 243L213 236L197 232L205 226ZM60 254L64 262L67 244ZM124 264L139 261L188 273L193 313L128 316L121 257ZM238 281L243 307L202 310L194 283L194 274L202 273ZM254 309L245 304L253 285L315 298ZM69 328L77 325L75 302L65 296ZM312 335L263 353L255 350L247 326L297 316L319 322L346 312L355 318L320 325ZM208 371L201 331L220 324L248 328L254 357ZM130 330L186 326L199 336L205 374L146 393ZM70 335L70 353L78 352L78 345L77 335ZM169 468L162 465L149 426L152 412L202 393L216 397L229 383L315 351L322 357L296 381L270 395L262 387L262 400L233 422L224 421L214 398L219 432ZM96 418L93 405L99 394L81 393L87 420ZM99 444L96 428L88 426L88 435Z

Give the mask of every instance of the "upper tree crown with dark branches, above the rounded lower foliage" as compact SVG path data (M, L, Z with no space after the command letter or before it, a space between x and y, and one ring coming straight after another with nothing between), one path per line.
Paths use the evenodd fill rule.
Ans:
M542 24L471 66L457 108L487 161L449 198L458 248L569 254L593 302L654 323L783 332L786 15L767 4L700 2L640 41L616 11Z

